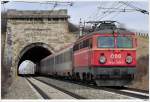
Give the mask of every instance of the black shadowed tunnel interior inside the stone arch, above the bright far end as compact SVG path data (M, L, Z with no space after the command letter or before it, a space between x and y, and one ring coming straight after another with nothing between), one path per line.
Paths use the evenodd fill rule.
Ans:
M20 60L18 62L17 74L19 75L19 66L23 61L30 60L37 65L43 58L45 58L51 54L52 54L52 52L44 46L38 46L38 45L32 46L31 48L26 50L20 57ZM37 70L36 70L36 72L38 73Z

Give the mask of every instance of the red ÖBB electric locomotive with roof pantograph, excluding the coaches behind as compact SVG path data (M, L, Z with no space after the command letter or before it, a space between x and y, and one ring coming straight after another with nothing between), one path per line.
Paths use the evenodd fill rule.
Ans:
M94 80L99 86L129 84L136 71L135 34L116 28L114 21L94 23L101 23L96 28L99 30L74 44L74 73L80 79Z

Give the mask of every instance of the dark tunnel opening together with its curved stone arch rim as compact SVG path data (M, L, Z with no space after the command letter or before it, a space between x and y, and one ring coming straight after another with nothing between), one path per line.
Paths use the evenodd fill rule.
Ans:
M31 43L27 46L25 46L19 56L18 56L18 61L17 61L17 73L18 73L18 68L19 65L25 61L25 60L31 60L35 64L40 62L41 59L45 58L48 55L53 54L54 51L53 49L45 43L42 42L36 42L36 43Z

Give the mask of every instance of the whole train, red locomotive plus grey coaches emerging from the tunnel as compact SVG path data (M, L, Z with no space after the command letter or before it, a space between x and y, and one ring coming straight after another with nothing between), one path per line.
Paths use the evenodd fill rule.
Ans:
M73 45L41 60L40 73L99 86L130 84L136 72L136 37L114 22L87 22L98 26Z

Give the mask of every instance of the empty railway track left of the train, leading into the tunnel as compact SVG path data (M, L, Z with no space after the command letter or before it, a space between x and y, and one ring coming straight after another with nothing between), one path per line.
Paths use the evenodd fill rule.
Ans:
M43 99L53 99L53 97L49 96L50 93L45 92L45 91L42 89L42 87L39 87L38 85L36 85L33 81L31 81L31 79L29 79L29 78L26 78L26 79L27 79L27 81L34 87L34 89L36 89L36 91L42 96ZM34 80L36 80L36 81L39 81L39 82L41 82L41 83L43 83L43 84L45 84L45 85L47 85L47 86L50 86L50 87L52 87L52 88L55 88L55 89L61 91L62 93L65 93L65 94L68 95L68 96L71 96L71 97L69 97L70 99L86 99L85 97L82 97L82 96L79 96L79 95L77 95L77 94L71 93L71 92L69 92L69 91L67 91L67 90L64 90L64 89L62 89L62 88L60 88L60 87L57 87L57 86L55 86L55 85L52 85L52 84L50 84L50 83L44 82L44 81L42 81L42 80L39 80L39 79L36 79L36 78L32 78L32 79L34 79ZM48 90L48 89L47 89L47 90ZM49 90L51 90L51 89L49 89ZM61 94L61 93L60 93L60 94ZM55 95L56 95L56 94L55 94ZM61 94L61 95L62 95L62 94ZM67 97L68 97L68 96L67 96ZM67 97L65 97L65 95L63 96L63 98L59 97L59 95L58 95L57 97L60 98L60 99L68 99ZM54 98L54 99L55 99L55 98Z

